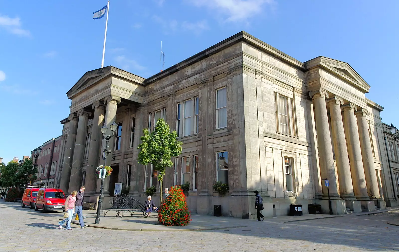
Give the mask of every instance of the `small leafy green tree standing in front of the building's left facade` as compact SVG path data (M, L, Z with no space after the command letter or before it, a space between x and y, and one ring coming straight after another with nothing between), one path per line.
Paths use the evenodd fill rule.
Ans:
M164 119L159 118L155 124L155 130L148 133L148 129L143 129L144 135L140 138L138 145L138 163L147 165L152 164L154 170L158 170L158 181L160 181L160 201L162 202L162 181L166 167L172 167L171 158L182 153L182 142L176 140L176 131L170 132L169 125Z

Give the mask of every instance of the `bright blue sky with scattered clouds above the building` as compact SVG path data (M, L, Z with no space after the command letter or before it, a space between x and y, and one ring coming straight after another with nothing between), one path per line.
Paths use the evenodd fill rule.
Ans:
M61 135L65 93L100 68L107 1L2 1L0 157L20 159ZM399 1L118 0L110 3L105 66L156 74L245 30L299 61L349 63L371 86L367 98L399 127Z

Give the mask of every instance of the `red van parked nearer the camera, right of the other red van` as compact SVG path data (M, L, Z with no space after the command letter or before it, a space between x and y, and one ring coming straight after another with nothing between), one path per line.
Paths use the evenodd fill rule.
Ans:
M66 197L61 189L40 188L35 200L35 211L64 210Z

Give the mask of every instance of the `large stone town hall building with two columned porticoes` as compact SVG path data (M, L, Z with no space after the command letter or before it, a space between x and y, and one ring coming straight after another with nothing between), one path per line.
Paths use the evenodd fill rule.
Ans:
M115 121L106 196L123 183L136 199L152 185L158 197L157 171L137 163L137 146L142 129L154 130L162 117L184 143L164 186L189 181L193 212L221 205L223 215L254 218L258 190L265 216L287 215L291 203L304 213L320 203L328 213L325 178L334 214L373 210L376 198L381 207L397 205L383 156L383 107L365 98L369 89L348 63L302 63L244 31L147 79L113 66L92 70L67 92L59 186L83 184L85 201L97 200L100 127ZM225 197L213 190L216 181L229 185Z

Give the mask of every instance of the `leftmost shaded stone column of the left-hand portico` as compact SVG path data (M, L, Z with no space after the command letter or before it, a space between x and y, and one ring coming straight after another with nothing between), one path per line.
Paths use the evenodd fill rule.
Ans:
M64 151L64 162L62 165L61 180L59 183L59 188L63 190L65 194L68 192L69 179L71 178L71 166L72 166L73 150L75 148L78 117L76 117L74 113L71 113L68 119L69 119L68 136Z

